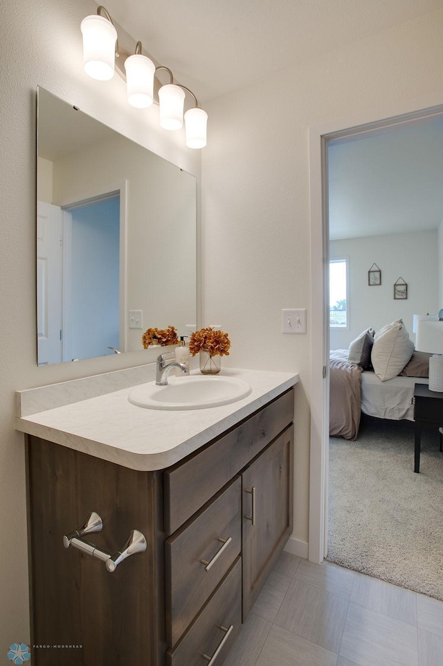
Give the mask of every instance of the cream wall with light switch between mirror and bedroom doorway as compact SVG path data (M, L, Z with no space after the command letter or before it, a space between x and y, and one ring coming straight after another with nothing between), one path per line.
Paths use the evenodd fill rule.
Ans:
M443 11L433 12L206 104L204 320L216 318L230 333L224 362L300 372L293 545L301 550L309 508L308 129L442 91L442 28ZM307 335L282 335L281 309L290 307L307 308Z

